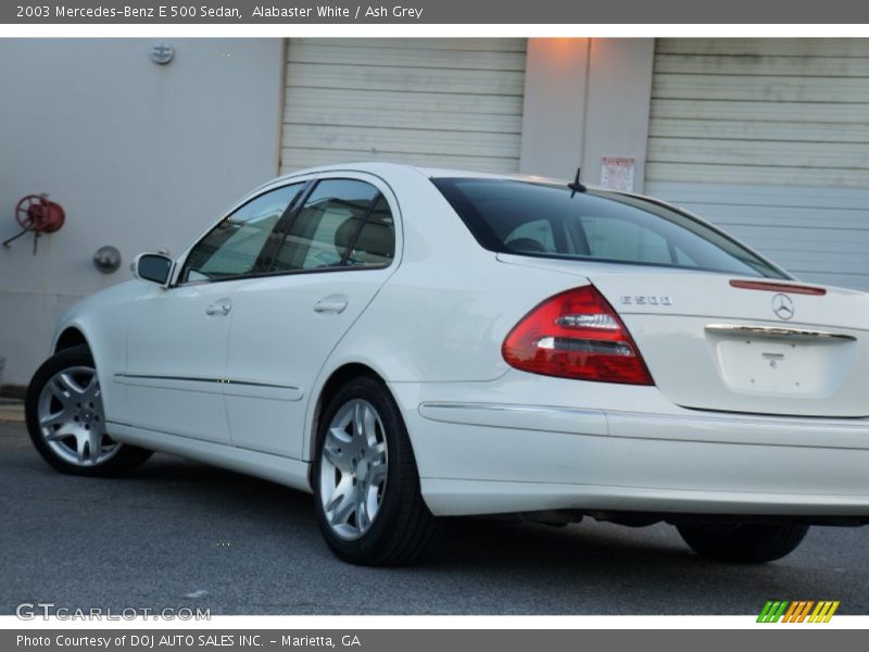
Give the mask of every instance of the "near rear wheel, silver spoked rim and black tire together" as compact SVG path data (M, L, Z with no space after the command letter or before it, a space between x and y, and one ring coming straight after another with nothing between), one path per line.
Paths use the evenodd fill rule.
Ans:
M351 380L326 405L312 484L326 542L345 562L403 565L432 550L440 524L423 501L401 413L376 378Z

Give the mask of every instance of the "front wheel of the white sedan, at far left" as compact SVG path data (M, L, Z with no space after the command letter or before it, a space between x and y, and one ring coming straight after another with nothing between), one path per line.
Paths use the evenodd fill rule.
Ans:
M67 372L67 376L74 379L73 384L77 387L85 385L84 380L78 385L77 379L92 378L96 384L93 390L79 397L67 387L64 401L68 403L61 402L56 391L63 392L64 388L56 384L56 379L63 372ZM55 383L54 392L47 388L49 383ZM54 398L49 393L53 393ZM79 398L80 401L76 402ZM67 404L68 406L64 406ZM63 418L63 423L52 426L40 424L40 411L50 413L52 408L58 411L58 418ZM36 371L27 388L24 414L34 447L46 462L61 473L99 477L122 475L142 464L152 454L151 451L116 442L105 434L99 379L93 356L86 346L59 351ZM90 441L99 441L99 444L91 454L89 442L86 442L83 455L76 448L79 436L90 437L91 431L93 439ZM78 436L64 432L77 432Z

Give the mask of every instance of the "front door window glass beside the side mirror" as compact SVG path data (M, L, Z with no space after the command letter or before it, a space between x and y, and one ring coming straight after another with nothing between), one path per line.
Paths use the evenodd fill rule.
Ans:
M235 278L253 273L260 253L304 184L277 188L221 221L187 256L180 283Z

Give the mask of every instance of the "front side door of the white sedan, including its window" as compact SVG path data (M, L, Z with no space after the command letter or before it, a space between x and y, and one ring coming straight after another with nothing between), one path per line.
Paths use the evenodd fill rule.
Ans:
M134 302L124 374L130 425L230 442L223 389L235 296L303 186L238 208L190 249L173 287Z

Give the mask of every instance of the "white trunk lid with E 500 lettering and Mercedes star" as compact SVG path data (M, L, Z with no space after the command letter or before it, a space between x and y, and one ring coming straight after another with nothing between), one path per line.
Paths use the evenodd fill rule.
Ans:
M667 267L507 256L589 279L618 312L655 385L692 409L869 415L869 294ZM756 288L758 281L772 284Z

